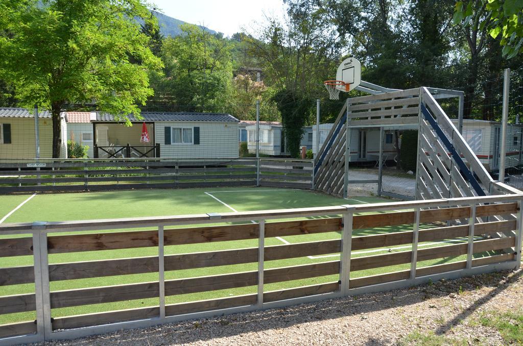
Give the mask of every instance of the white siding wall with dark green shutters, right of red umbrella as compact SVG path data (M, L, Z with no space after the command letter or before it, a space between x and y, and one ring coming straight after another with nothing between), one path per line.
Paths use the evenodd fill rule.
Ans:
M165 126L200 128L200 144L165 144ZM169 158L238 157L238 123L212 121L156 121L155 142L160 154ZM194 135L194 133L193 133Z

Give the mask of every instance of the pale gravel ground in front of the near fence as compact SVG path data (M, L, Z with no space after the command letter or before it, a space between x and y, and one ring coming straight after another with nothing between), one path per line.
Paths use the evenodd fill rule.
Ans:
M484 312L521 308L522 275L521 270L477 275L42 345L395 345L414 331L498 345L503 339L495 329L473 321Z

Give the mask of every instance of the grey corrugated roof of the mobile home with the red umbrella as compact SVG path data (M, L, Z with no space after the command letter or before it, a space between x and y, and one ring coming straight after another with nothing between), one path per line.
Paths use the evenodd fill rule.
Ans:
M208 122L239 122L240 120L226 113L196 113L196 112L141 112L142 119L137 119L129 114L131 122L141 121L208 121ZM97 122L121 121L113 114L97 113Z

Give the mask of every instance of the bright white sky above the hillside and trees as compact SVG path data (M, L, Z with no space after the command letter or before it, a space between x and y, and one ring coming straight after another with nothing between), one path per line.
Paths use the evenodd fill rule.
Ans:
M284 13L282 0L152 0L156 8L169 17L191 24L204 25L225 36L241 31L252 32L256 22L265 22L265 16Z

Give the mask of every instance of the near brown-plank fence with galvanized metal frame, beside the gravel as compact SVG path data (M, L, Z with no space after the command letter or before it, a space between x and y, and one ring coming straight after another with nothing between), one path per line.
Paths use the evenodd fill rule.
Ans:
M36 314L36 321L0 325L0 343L77 338L122 328L281 307L392 290L441 278L515 269L521 260L522 199L521 194L508 194L223 214L0 225L0 236L9 236L0 238L0 257L32 256L34 263L32 266L0 269L1 288L35 284L33 293L0 296L0 318L23 312ZM299 220L282 221L289 218ZM460 219L469 221L453 222L447 226L447 221ZM397 225L411 225L412 230L353 235L360 229ZM131 232L131 228L142 230ZM113 232L115 229L123 232ZM337 232L338 237L321 241L308 238L311 234L327 232ZM506 232L508 236L502 236L500 232ZM31 237L20 237L24 234ZM304 242L265 245L267 238L291 235L301 235ZM169 253L176 254L165 254L167 246L197 244L201 251L209 243L248 239L255 246L237 248L230 245L226 250L224 246L217 246L220 249L181 254L169 250ZM461 241L452 244L456 239ZM440 246L418 246L422 242L435 241L440 241ZM407 250L358 255L358 251L364 249L399 245L406 245ZM137 248L148 248L149 255L152 249L157 255L120 259L105 256L106 259L100 259L107 250ZM88 251L97 251L100 256L85 261L84 254L88 255ZM52 257L54 260L49 263L50 256L70 253L76 253L78 261L60 262ZM267 261L278 263L274 261L327 254L339 254L339 257L287 267L271 264L266 268ZM466 256L456 260L462 255ZM434 259L440 260L426 266L424 261ZM197 273L201 269L242 263L251 263L252 269L257 269L227 270L196 277L197 274L192 272L168 280L165 275L166 272L187 269ZM401 270L390 267L402 264ZM368 270L379 268L379 274L368 274ZM124 280L126 276L115 276L147 273L157 273L157 280L129 283ZM104 284L107 278L115 277L121 284ZM99 280L93 281L93 278ZM302 282L277 290L268 290L264 286L312 278L319 282ZM82 279L90 279L91 285L81 289L50 289L50 285L56 282ZM238 287L252 287L252 290L240 295L230 294L234 292L230 290ZM185 294L202 292L222 294L200 301L183 299ZM174 304L166 303L166 298L173 296L180 297L180 300ZM57 311L60 310L56 310L146 298L157 300L152 306L112 310L109 305L106 307L109 311L89 314L69 312L63 316L64 313L59 314Z

